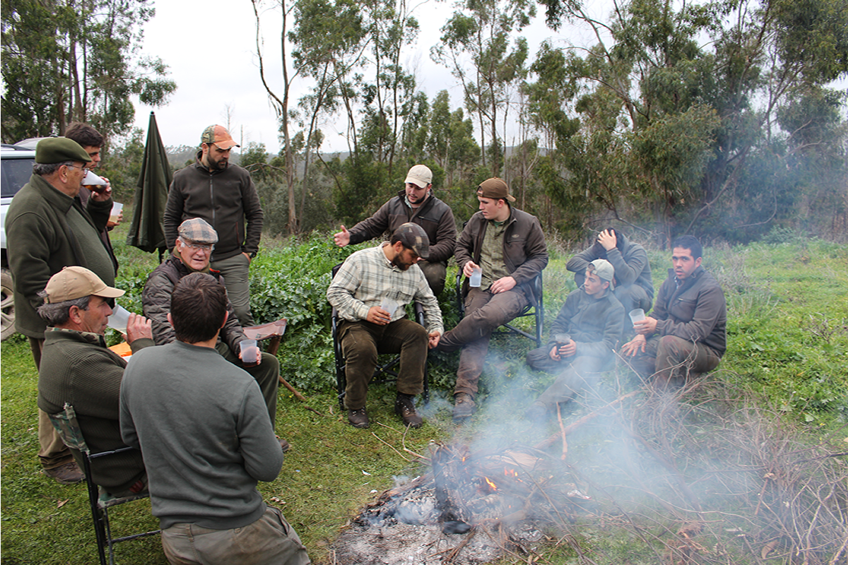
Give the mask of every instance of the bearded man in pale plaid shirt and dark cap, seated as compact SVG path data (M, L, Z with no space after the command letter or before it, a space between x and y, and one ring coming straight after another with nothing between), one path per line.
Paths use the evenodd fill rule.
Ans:
M342 318L338 339L347 380L344 406L349 423L356 428L370 425L365 396L377 367L377 354L398 352L394 411L407 426L421 427L413 397L424 389L427 347L437 346L444 332L436 296L416 264L428 253L427 233L421 226L402 224L390 241L347 258L326 290L327 301ZM415 301L424 307L426 330L406 318L406 305Z

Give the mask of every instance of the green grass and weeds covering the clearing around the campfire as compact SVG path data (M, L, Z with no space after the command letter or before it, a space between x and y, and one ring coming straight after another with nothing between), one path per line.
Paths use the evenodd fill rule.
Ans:
M119 229L113 235L121 263L118 285L128 291L125 307L140 311L138 296L156 260L127 248L122 240ZM265 240L254 263L254 307L258 321L289 319L280 352L282 374L308 400L298 402L281 388L277 433L291 441L293 450L287 454L280 476L260 484L259 490L266 501L282 508L315 562L333 562L332 541L377 492L399 477L424 470L415 463L412 452L427 455L431 441L475 444L488 439L495 446L514 440L532 444L555 431L505 424L511 422L508 417L521 413L551 378L525 368L528 341L504 336L493 339L483 375L481 410L470 426L455 429L450 422L445 396L453 384L453 354L439 356L431 364L433 400L421 429L404 431L399 425L388 386L372 386L369 392L371 429L350 427L332 392L329 307L322 296L332 265L351 250L339 250L326 236L292 245L282 243ZM762 479L765 471L761 469L787 470L781 488L796 485L797 490L784 493L795 493L794 501L806 500L805 493L813 486L801 488L807 485L798 478L801 471L807 472L804 480L820 477L816 485L832 485L831 479L840 473L844 461L826 454L840 445L846 451L848 446L844 431L848 410L848 251L844 246L806 241L714 248L706 254L706 268L721 280L728 296L728 353L720 370L709 383L689 391L674 410L665 405L658 409L650 404L650 397L639 396L622 411L569 436L569 457L560 472L572 474L576 484L591 492L599 512L575 512L571 522L546 529L549 541L537 548L540 562L589 562L588 557L578 557L581 552L599 563L656 563L669 552L680 554L683 550L675 531L697 512L681 491L681 483L667 480L676 474L683 477L687 488L697 490L706 512L698 514L709 524L698 538L701 546L709 548L700 553L702 562L758 562L768 543L767 533L779 521L763 507L754 515L757 492L762 489L766 494L764 501L777 496L771 490L777 483ZM666 274L667 255L650 251L656 288ZM565 270L567 257L567 252L556 253L545 271L547 325L574 288ZM445 318L455 318L448 291L440 302ZM116 341L117 336L110 335L109 340ZM2 562L92 562L95 545L85 487L56 484L42 474L37 462L36 386L27 342L20 335L4 341L0 389ZM624 372L611 373L598 396L572 403L563 418L576 418L637 387ZM783 451L777 447L767 453L758 451L754 437L763 446L783 446ZM799 457L785 455L784 451L791 451L787 446L799 453L824 450L810 457L836 467L822 463L812 470L801 468ZM646 453L665 454L674 473L667 467L656 468L658 459L646 458ZM719 461L748 465L756 472L734 474L731 480L722 474L728 471L719 470ZM789 470L798 473L790 476ZM636 476L641 479L633 480ZM845 496L844 489L834 489L837 499ZM676 509L668 510L669 501ZM812 496L805 508L816 507L816 503ZM779 507L779 502L775 506ZM830 511L819 504L818 509L822 508ZM828 512L819 514L825 518L834 515ZM119 508L114 515L120 516L114 524L116 531L157 527L147 501ZM806 515L799 509L793 519L800 523ZM820 540L823 551L833 555L833 548L824 543L832 533L830 524L826 526L818 524ZM724 531L734 528L745 529L748 537ZM778 529L774 531L780 534ZM793 539L789 534L782 535ZM789 553L775 546L770 557L784 556L777 562L789 563ZM508 556L503 562L518 559ZM521 559L527 562L527 556ZM119 545L117 562L165 563L165 558L158 538L152 538Z

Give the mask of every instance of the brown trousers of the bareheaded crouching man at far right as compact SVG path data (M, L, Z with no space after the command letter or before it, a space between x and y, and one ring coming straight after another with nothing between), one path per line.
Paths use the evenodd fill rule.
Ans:
M633 357L633 369L643 379L653 375L654 385L683 386L689 374L709 373L722 360L702 343L676 335L655 335L648 339L644 353Z

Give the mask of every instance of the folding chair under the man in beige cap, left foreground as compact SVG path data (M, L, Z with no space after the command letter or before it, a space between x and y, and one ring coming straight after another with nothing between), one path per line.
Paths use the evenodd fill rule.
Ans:
M119 506L130 501L137 501L142 498L148 498L148 492L142 492L131 496L112 496L103 488L94 484L92 479L92 459L98 457L109 457L116 453L122 453L134 447L122 447L113 451L101 451L92 453L86 445L86 440L82 437L80 423L76 419L74 407L70 403L64 405L64 410L59 413L49 414L50 422L53 427L59 432L59 436L68 447L79 450L82 455L82 470L86 474L86 486L88 487L88 504L92 510L92 519L94 520L94 533L98 540L98 556L100 564L106 565L106 547L109 547L109 565L114 565L114 544L119 541L135 540L148 535L159 534L159 530L144 532L143 534L125 535L119 538L113 538L112 532L109 529L109 508Z

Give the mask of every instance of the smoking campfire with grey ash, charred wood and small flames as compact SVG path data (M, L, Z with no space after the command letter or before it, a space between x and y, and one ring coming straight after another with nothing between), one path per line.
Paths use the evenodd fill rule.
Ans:
M338 563L471 564L527 555L546 524L592 504L557 461L532 446L434 445L429 463L427 474L360 512L337 540Z

